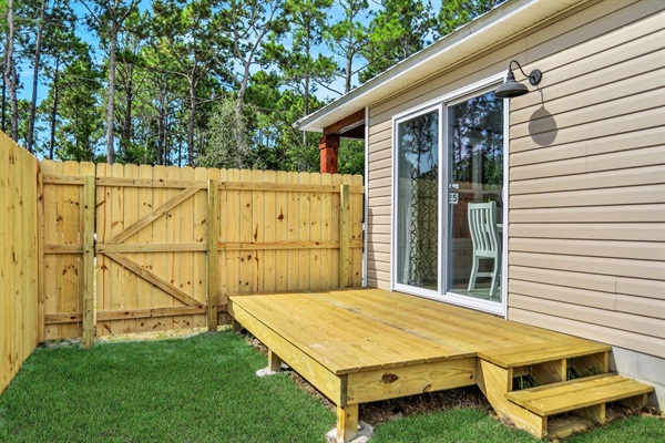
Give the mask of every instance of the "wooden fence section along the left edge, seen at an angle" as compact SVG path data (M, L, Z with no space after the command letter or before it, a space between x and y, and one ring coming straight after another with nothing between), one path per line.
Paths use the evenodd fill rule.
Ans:
M0 132L0 392L38 343L38 168Z

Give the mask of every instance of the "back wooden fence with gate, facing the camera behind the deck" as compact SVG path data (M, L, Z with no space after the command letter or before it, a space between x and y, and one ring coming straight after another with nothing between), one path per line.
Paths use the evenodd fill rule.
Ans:
M40 340L215 329L226 295L361 285L361 176L45 161L40 190Z

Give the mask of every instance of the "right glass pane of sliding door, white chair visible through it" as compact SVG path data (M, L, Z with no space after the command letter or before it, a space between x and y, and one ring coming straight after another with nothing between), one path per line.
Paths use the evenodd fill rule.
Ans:
M501 301L503 100L489 92L449 105L447 114L446 289Z

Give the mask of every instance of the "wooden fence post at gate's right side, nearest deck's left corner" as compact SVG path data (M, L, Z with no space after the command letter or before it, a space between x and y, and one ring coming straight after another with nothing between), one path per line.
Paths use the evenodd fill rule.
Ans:
M219 264L217 257L217 239L219 237L219 188L217 181L208 179L207 199L207 326L208 331L216 331L219 303Z

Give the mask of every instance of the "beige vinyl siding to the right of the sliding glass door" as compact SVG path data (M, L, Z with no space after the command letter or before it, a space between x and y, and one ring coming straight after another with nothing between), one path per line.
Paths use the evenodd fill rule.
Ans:
M511 101L509 159L509 319L661 358L664 22L657 12L540 61L544 103ZM551 117L534 120L540 109Z

